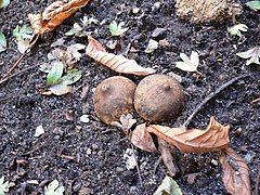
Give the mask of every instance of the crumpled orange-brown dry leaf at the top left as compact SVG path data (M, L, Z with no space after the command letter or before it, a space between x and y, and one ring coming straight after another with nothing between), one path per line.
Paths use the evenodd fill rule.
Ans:
M42 14L30 14L29 21L35 34L52 31L89 0L61 0L50 4Z

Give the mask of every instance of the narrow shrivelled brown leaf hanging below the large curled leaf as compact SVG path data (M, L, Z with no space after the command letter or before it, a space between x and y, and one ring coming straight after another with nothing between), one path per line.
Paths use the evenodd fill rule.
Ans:
M159 145L158 148L161 154L162 161L164 161L165 166L167 167L169 174L171 177L176 176L177 167L173 164L173 157L172 157L169 145L167 144L167 142L165 140L162 140L160 138L158 138L158 145Z

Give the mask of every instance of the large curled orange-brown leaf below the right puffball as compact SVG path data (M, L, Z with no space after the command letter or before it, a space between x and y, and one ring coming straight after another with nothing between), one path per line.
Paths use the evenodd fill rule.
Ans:
M222 150L230 143L229 130L230 126L220 125L213 117L210 118L206 130L184 130L158 125L147 127L148 132L155 133L183 153L206 153Z

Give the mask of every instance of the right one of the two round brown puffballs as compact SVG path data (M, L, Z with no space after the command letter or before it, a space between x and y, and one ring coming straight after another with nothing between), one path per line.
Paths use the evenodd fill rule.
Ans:
M167 75L151 75L141 80L134 93L138 114L151 121L177 117L185 104L181 84Z

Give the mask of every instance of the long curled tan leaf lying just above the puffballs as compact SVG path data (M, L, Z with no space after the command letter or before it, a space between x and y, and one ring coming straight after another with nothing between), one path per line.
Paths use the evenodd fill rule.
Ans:
M122 55L107 53L102 44L91 36L88 36L88 40L87 55L115 72L133 75L150 75L155 73L155 69L153 68L139 66L134 60L126 58Z

